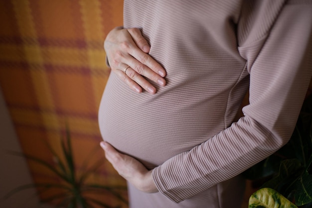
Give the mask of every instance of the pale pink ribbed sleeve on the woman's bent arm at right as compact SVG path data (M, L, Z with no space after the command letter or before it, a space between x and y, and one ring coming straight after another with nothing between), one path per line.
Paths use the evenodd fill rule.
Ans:
M252 41L254 22L246 21L249 26L238 31L244 36L238 50L250 74L244 117L156 167L153 177L163 195L181 202L242 173L289 141L312 76L311 11L311 0L290 1L274 21L257 23L269 31Z

